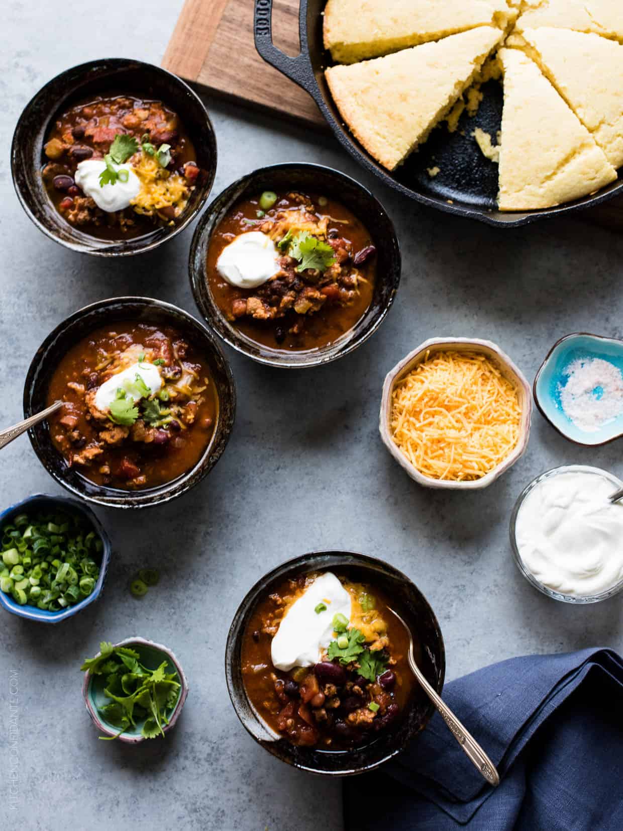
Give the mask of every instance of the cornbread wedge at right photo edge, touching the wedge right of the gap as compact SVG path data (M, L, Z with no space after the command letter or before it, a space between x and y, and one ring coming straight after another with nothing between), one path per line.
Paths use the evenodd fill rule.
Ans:
M623 0L621 0L623 3ZM569 29L525 29L524 51L591 132L607 160L623 165L623 46Z

